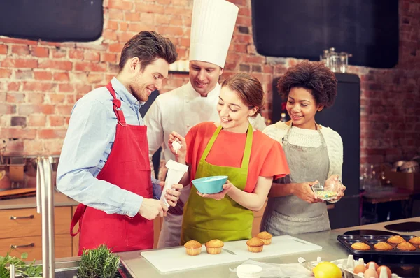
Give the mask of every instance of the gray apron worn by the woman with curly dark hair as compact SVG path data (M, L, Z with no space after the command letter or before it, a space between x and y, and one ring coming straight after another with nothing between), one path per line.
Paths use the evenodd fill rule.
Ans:
M291 127L290 127L291 129ZM325 182L328 177L330 160L321 131L321 146L301 147L288 142L290 129L283 138L283 150L286 154L290 175L277 182L281 184L301 182ZM297 235L330 230L327 205L309 204L295 195L269 198L262 216L261 231L272 235Z

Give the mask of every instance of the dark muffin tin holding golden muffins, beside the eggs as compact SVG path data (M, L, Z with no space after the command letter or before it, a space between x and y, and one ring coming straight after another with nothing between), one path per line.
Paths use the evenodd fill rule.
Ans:
M398 244L393 244L391 242L387 242L386 240L393 235L338 235L337 240L346 247L347 250L351 254L356 255L380 255L380 256L420 256L420 249L419 244L413 244L416 247L414 251L404 251L397 248ZM412 237L416 237L415 235L401 235L407 242L412 239ZM351 248L351 244L356 242L364 242L365 244L370 246L369 250L356 250ZM387 242L390 244L393 249L392 250L379 250L374 249L374 244L378 242Z

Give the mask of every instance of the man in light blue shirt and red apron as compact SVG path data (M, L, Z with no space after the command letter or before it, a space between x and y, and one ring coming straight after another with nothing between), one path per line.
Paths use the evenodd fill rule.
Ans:
M167 207L153 196L139 108L160 89L176 57L169 39L141 31L125 44L116 78L80 98L71 112L57 188L80 203L71 221L71 235L80 232L79 255L100 244L114 252L153 247L152 220ZM164 192L169 205L176 205L181 188Z

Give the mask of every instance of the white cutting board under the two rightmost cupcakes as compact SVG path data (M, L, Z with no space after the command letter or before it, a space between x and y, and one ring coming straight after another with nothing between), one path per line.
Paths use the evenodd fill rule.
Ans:
M282 256L290 254L301 254L309 251L321 250L322 247L311 242L300 240L290 235L279 235L272 238L272 243L264 245L262 252L252 253L248 251L246 240L225 242L225 249L237 255L247 256L248 258L267 258L272 256Z

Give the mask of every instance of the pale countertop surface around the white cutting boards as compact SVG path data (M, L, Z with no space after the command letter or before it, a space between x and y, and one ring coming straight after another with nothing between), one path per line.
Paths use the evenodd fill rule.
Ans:
M384 226L388 224L396 224L406 221L420 221L420 217L414 217L410 219L400 219L395 221L382 222L377 224L370 224L364 226L354 226L349 228L341 228L337 230L332 230L328 232L321 233L307 233L302 235L295 235L295 237L314 244L321 245L323 249L321 251L314 251L310 253L303 254L294 254L289 256L278 256L271 258L263 258L255 261L262 261L265 263L297 263L297 258L300 256L305 258L307 261L316 261L316 257L321 256L323 261L334 261L339 258L347 258L349 253L346 249L340 244L337 240L337 235L342 235L346 231L351 230L360 230L360 229L370 229L370 230L382 230L387 231ZM420 236L420 231L411 232L411 233L400 233L401 235L417 235ZM161 274L156 270L151 263L148 263L146 259L141 257L140 251L124 252L120 253L121 258L127 264L130 272L136 275L136 277L148 277L148 278L158 278L158 277L171 277L171 278L181 278L181 277L200 277L200 278L214 278L214 277L228 277L234 278L237 275L233 272L230 272L229 268L236 268L239 263L230 263L225 265L217 265L207 268L197 268L195 270L185 270L179 272L169 272L165 275Z

